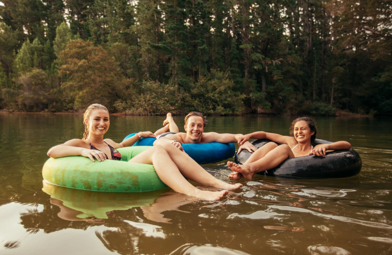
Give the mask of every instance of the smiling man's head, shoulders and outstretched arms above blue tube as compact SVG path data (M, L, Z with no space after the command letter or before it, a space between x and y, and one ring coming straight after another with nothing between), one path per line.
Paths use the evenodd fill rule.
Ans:
M238 142L238 139L243 136L243 134L229 134L229 133L217 133L217 132L205 132L204 128L207 125L207 120L205 116L196 111L192 111L185 116L184 132L166 132L157 136L157 141L161 139L172 140L172 144L177 148L182 150L182 144L192 144L192 143L233 143ZM162 140L161 140L162 141ZM243 145L243 149L253 152L256 148L249 142Z

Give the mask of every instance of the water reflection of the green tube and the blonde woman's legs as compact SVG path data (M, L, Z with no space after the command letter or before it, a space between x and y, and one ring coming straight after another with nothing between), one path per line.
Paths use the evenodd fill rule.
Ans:
M114 218L116 211L140 207L143 215L150 221L170 223L164 211L180 211L184 204L194 202L184 194L166 189L145 193L107 193L77 190L55 186L43 181L42 190L50 195L50 204L60 208L58 217L68 221L104 223Z

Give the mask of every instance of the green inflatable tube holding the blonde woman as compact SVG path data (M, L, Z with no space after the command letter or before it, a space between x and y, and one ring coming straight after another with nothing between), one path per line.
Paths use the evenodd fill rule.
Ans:
M145 192L167 188L152 165L127 162L150 146L117 149L119 160L91 161L88 157L49 158L42 176L50 184L103 192Z

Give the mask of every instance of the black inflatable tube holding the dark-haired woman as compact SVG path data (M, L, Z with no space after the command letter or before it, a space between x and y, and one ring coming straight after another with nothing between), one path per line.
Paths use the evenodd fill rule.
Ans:
M251 141L257 149L271 142L268 139ZM330 141L316 139L315 144L329 144ZM241 151L235 156L235 162L245 163L250 153ZM350 149L348 151L333 151L327 153L325 157L316 155L294 157L283 161L279 166L260 172L258 174L285 177L285 178L342 178L359 174L362 167L362 160L359 154Z

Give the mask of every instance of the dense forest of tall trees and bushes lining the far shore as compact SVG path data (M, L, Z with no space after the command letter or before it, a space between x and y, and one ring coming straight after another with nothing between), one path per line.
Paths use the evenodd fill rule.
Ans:
M390 0L0 0L0 109L392 114Z

